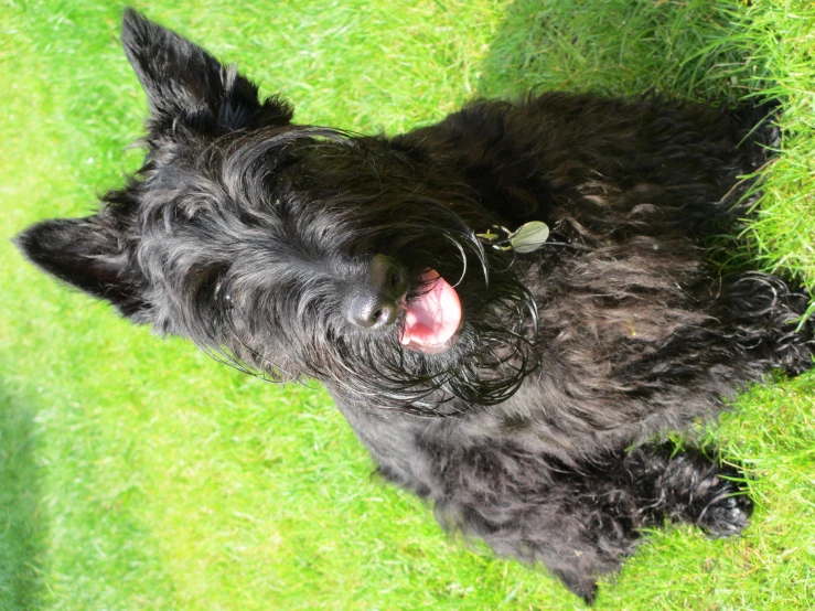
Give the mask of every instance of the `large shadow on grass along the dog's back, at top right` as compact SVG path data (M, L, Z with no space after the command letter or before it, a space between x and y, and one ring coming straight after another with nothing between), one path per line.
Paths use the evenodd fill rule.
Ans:
M754 66L733 39L733 4L688 0L518 0L490 44L479 93L543 90L671 97L732 104L751 92Z

